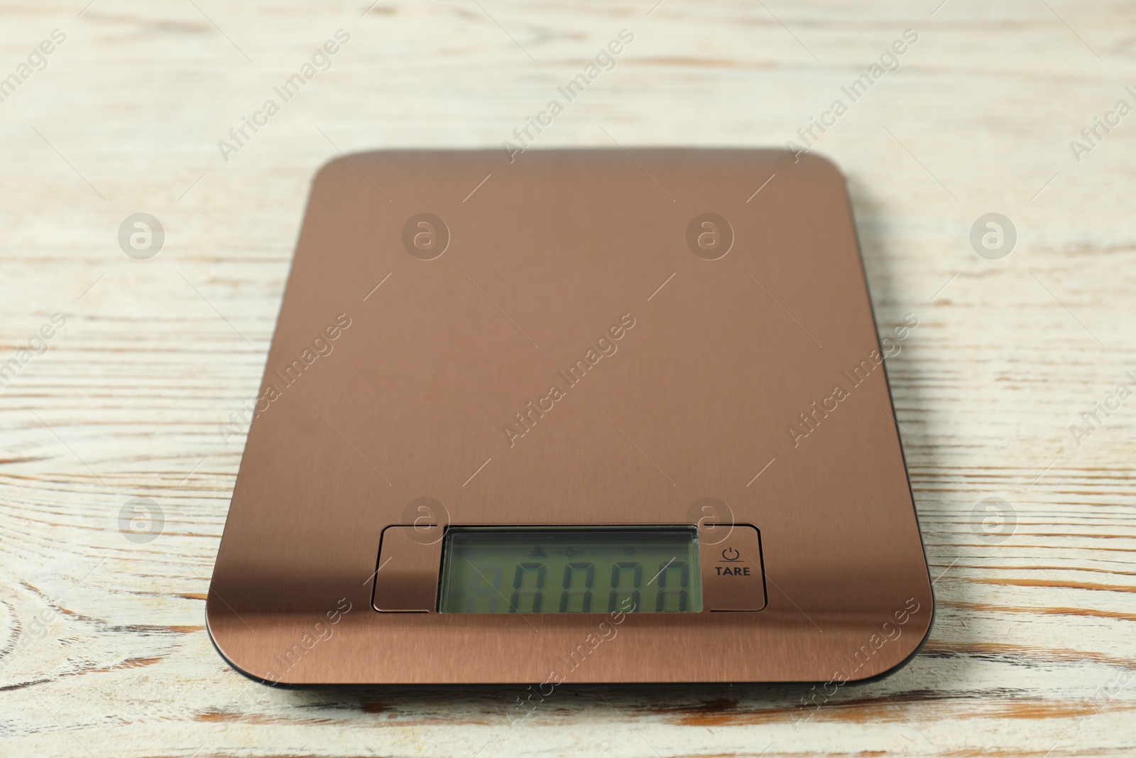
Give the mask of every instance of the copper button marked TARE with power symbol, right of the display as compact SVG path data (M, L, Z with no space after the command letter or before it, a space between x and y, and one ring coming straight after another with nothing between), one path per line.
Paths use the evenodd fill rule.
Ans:
M719 524L699 535L702 607L705 610L761 610L761 539L747 524Z

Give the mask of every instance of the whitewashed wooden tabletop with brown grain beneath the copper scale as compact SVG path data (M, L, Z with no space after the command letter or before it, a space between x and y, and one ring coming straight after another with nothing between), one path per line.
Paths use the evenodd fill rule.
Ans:
M1136 750L1131 3L86 2L0 25L0 755ZM244 680L203 628L243 445L218 430L256 394L309 180L341 151L499 145L624 28L534 149L804 147L829 124L809 142L847 174L880 332L919 319L887 367L937 577L926 647L824 695L565 688L517 723L513 689ZM262 125L237 144L242 117ZM144 260L118 239L137 213L165 232ZM971 244L991 213L1008 256L994 227Z

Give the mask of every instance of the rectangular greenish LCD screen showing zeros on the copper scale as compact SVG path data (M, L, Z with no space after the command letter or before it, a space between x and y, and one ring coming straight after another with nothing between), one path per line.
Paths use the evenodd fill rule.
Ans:
M694 527L453 527L438 613L702 610Z

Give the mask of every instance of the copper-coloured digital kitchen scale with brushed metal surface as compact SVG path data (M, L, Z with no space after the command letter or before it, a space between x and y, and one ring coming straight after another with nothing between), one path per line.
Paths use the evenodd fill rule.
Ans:
M933 600L882 364L821 158L334 160L209 633L283 684L888 673Z

